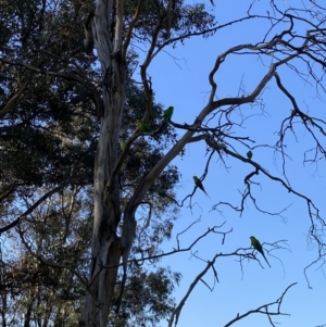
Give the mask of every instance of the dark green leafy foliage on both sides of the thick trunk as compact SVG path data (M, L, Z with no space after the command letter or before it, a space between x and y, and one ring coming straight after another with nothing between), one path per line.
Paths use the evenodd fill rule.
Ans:
M125 29L135 4L125 2ZM61 187L5 234L16 251L1 259L5 263L1 266L1 300L7 302L1 314L12 326L76 326L83 306L86 288L77 275L84 280L89 276L93 161L103 80L96 55L83 49L83 24L92 9L92 2L84 0L0 0L0 227ZM148 42L161 20L159 43L174 43L174 37L183 41L215 24L203 4L177 1L171 9L167 1L146 0L135 29L138 41ZM137 59L129 49L120 135L124 144L147 108L143 89L131 79ZM151 131L162 127L163 108L153 103L146 122ZM141 178L176 142L172 125L163 127L151 137L138 137L128 150L118 175L122 210ZM167 166L146 196L153 205L151 215L146 204L137 211L139 237L131 256L138 265L129 267L114 326L154 326L174 305L171 293L180 276L158 267L155 259L148 271L142 259L159 254L162 241L171 237L177 215L173 188L178 178L177 167ZM168 197L160 197L158 189Z

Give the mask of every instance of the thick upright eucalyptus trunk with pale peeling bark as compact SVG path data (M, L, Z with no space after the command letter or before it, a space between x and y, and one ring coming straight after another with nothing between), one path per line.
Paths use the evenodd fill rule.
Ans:
M122 247L116 228L121 221L117 174L117 144L126 100L126 61L122 49L122 1L97 1L91 20L95 46L102 68L101 131L98 142L91 241L90 287L86 295L82 326L104 327L113 297ZM116 15L113 14L116 10ZM113 29L113 18L116 17ZM115 30L114 35L112 32ZM114 266L103 268L103 266Z

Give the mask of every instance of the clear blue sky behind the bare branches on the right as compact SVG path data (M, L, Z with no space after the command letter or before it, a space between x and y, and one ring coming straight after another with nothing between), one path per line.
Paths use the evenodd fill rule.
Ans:
M214 13L218 23L223 24L233 17L244 14L250 1L215 1ZM299 1L279 1L279 5L286 7ZM311 2L306 1L311 5ZM256 1L256 12L264 9L264 1ZM300 3L297 3L300 5ZM162 104L175 106L173 121L176 123L191 124L205 105L209 97L210 85L208 75L213 67L216 56L229 47L238 43L259 41L264 35L267 25L251 21L218 32L210 39L196 38L186 41L186 46L179 46L176 50L159 55L149 68L152 77L156 100ZM301 32L304 26L298 26ZM174 56L174 58L173 58ZM216 74L218 84L217 97L236 97L241 87L251 92L261 78L267 73L271 58L264 62L256 56L233 56L223 64ZM296 61L298 67L304 70L302 63ZM315 67L317 70L317 67ZM326 120L325 95L317 96L312 78L306 80L299 78L287 67L278 70L284 85L296 96L301 111ZM261 95L262 106L241 108L233 117L240 120L241 115L251 115L241 128L235 129L237 135L250 136L255 144L274 146L278 138L281 121L287 117L292 109L290 101L277 89L275 79L271 80ZM296 129L297 139L288 134L286 139L287 176L291 187L311 198L321 210L321 215L326 215L326 180L325 160L318 164L304 165L303 153L313 147L309 134L299 125ZM325 144L325 138L322 139ZM246 155L244 147L236 146L242 155ZM262 260L264 269L255 261L243 261L242 272L236 257L221 257L215 264L220 284L215 285L211 292L203 284L199 284L186 302L179 317L179 327L224 326L238 313L243 314L248 310L277 300L284 290L292 282L292 287L284 300L281 312L290 316L276 316L274 323L281 326L314 327L326 324L325 312L325 268L319 264L308 271L312 289L309 289L304 278L304 267L317 257L317 248L308 241L306 235L310 228L310 217L304 200L287 192L278 183L268 180L263 174L254 177L259 186L253 186L253 196L258 204L266 211L280 212L281 215L271 216L258 212L251 201L246 202L246 210L239 213L227 206L220 207L223 213L212 211L214 204L220 201L228 201L234 205L240 204L240 193L243 191L243 178L253 168L246 163L238 162L234 158L223 154L227 169L217 155L212 160L210 172L203 181L210 194L209 199L203 192L197 190L192 199L192 210L189 202L180 211L179 219L175 224L174 236L164 244L164 250L170 251L176 247L175 236L191 223L200 218L181 238L181 246L187 247L208 227L225 225L222 231L233 228L233 232L226 237L222 244L218 235L211 235L201 241L195 249L203 260L211 260L215 253L229 253L238 248L249 248L249 237L254 235L261 242L273 243L287 240L288 250L273 251L267 254L272 268ZM271 174L283 177L280 155L275 150L266 147L253 151L253 160L264 166ZM205 144L203 142L191 143L186 147L186 155L174 162L181 172L180 184L177 186L177 199L192 192L192 176L201 176L205 166ZM266 250L271 247L265 248ZM274 256L273 256L274 255ZM258 255L260 259L260 255ZM180 287L175 292L177 302L184 297L193 278L204 268L204 262L191 256L190 252L176 254L164 259L163 265L170 265L172 269L183 274ZM205 282L213 285L213 274L206 274ZM235 326L269 326L266 316L252 315ZM161 326L166 326L162 322Z

